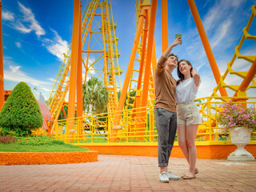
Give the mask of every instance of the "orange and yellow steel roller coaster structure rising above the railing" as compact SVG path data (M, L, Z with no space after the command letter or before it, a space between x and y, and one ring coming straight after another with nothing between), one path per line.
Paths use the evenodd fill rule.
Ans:
M252 14L247 26L243 30L242 39L235 48L234 57L231 62L228 63L225 74L221 76L194 0L188 0L188 3L211 69L214 73L215 81L218 85L214 88L214 93L211 96L218 96L217 92L219 90L222 100L226 100L225 97L228 97L226 88L229 88L230 90L234 90L234 97L246 97L246 90L256 88L254 81L256 56L242 55L239 53L239 50L245 39L256 40L255 36L248 34L256 12L255 5L252 6ZM86 9L82 14L80 1L74 0L72 49L70 46L70 50L65 54L65 59L59 70L58 78L54 83L54 89L50 93L49 107L54 122L58 120L60 111L64 111L63 105L68 91L68 118L74 118L75 103L78 117L82 116L82 111L79 112L78 109L79 106L82 106L82 79L84 79L85 83L89 74L94 76L96 74L96 77L100 78L104 82L104 85L108 87L110 92L110 102L107 106L108 114L114 111L119 111L119 114L122 114L122 110L132 108L135 109L133 118L137 116L136 121L146 121L145 118L140 118L140 116L144 117L145 114L136 112L140 111L140 107L154 105L154 67L157 62L154 46L154 24L157 0L152 0L151 3L149 0L145 0L144 2L138 0L136 7L137 31L134 38L134 46L130 54L130 61L126 70L126 78L123 86L121 86L120 74L122 74L122 71L118 66L118 57L120 55L117 49L118 38L116 38L114 33L116 24L113 22L110 2L92 0L87 3ZM161 8L162 50L166 50L168 46L167 0L162 0ZM138 58L136 58L136 56L138 56ZM231 66L235 58L242 58L253 63L250 70L248 72L232 70ZM85 66L83 77L82 64ZM244 78L244 80L240 86L227 85L225 83L227 74L236 74L240 78ZM252 85L250 85L250 82L252 82ZM118 91L121 91L119 99ZM135 95L131 94L131 92L135 93ZM75 98L76 93L77 98ZM125 102L126 108L124 108ZM202 116L206 115L203 112L204 107L206 107L206 105L202 106ZM122 129L121 118L121 115L110 118L112 122L114 122L111 129ZM52 130L53 129L51 129L50 133L52 133Z

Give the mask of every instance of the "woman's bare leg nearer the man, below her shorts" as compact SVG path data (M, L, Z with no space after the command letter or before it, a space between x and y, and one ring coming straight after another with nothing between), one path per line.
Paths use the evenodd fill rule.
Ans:
M177 137L178 146L182 149L182 153L184 154L186 161L190 165L189 150L186 145L186 125L178 124Z

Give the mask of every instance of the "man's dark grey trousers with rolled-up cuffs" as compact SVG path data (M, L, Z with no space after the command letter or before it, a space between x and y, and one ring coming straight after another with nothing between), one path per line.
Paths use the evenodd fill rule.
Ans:
M154 108L158 130L158 166L168 166L177 131L177 114L162 108Z

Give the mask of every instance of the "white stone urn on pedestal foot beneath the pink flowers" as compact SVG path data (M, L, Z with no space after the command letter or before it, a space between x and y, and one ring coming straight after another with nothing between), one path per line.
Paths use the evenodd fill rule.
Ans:
M230 128L231 142L238 146L238 149L231 153L227 160L230 161L255 161L255 158L244 147L250 142L252 129L247 127Z

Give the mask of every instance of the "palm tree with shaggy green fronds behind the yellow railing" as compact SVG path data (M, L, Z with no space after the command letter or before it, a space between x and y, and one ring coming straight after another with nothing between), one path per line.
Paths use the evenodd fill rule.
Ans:
M87 113L104 113L109 102L109 90L98 78L91 77L82 85L82 100L83 110Z

